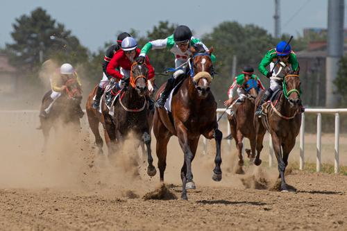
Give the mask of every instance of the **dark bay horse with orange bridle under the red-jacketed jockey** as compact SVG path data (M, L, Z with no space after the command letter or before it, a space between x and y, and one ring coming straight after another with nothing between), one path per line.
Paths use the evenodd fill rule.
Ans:
M151 128L153 125L153 112L149 110L146 94L149 94L147 78L149 69L146 63L142 65L134 62L130 70L130 86L123 89L114 103L114 114L110 116L109 110L102 103L103 123L108 136L112 141L121 145L130 132L146 145L149 166L147 173L155 176L151 154ZM109 152L115 151L114 144L108 145ZM112 154L112 153L111 153Z

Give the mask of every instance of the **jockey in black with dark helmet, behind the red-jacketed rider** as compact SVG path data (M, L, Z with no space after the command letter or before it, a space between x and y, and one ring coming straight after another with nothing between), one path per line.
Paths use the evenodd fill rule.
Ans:
M131 37L131 35L126 32L120 33L117 37L117 44L110 46L105 53L105 57L103 58L103 78L101 79L99 87L96 90L95 100L92 105L94 109L99 108L100 99L103 95L103 92L105 91L105 86L108 85L110 78L112 78L112 76L109 76L106 71L108 64L110 63L110 60L112 60L112 57L116 53L116 51L121 49L121 41L123 41L125 37Z

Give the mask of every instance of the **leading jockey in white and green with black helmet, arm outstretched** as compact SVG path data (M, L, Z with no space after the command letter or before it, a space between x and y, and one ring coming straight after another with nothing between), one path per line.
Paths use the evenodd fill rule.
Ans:
M187 60L192 55L192 52L189 50L190 46L194 46L194 44L201 44L205 51L208 52L207 46L203 44L200 40L192 36L192 31L187 26L178 26L173 35L170 35L164 40L154 40L151 42L147 42L141 50L139 54L139 58L137 62L144 62L144 57L149 51L152 49L168 49L171 53L175 55L175 67L182 67L182 69L178 69L174 72L171 78L167 80L167 85L165 86L164 91L160 95L158 101L155 102L155 106L157 108L164 107L165 102L167 101L167 97L169 96L171 89L174 88L175 80L181 74L186 73ZM214 55L211 55L212 62L216 59Z

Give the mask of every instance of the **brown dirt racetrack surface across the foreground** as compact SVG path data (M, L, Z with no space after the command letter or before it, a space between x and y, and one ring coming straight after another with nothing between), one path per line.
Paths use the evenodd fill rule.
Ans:
M0 230L346 230L346 177L294 173L288 182L298 192L197 185L188 201L1 189Z

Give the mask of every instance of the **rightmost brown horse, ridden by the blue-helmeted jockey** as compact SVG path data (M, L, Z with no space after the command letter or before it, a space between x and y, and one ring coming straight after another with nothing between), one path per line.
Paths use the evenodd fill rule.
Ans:
M273 151L278 162L279 178L281 179L281 190L287 191L285 182L285 168L288 164L288 157L294 148L295 139L301 127L301 114L298 113L300 99L300 78L298 71L289 74L285 71L285 77L282 79L282 90L275 103L267 103L267 111L261 118L254 117L256 130L256 149L255 165L260 165L260 152L262 151L262 141L266 130L271 134ZM262 99L261 92L255 101L255 108Z

